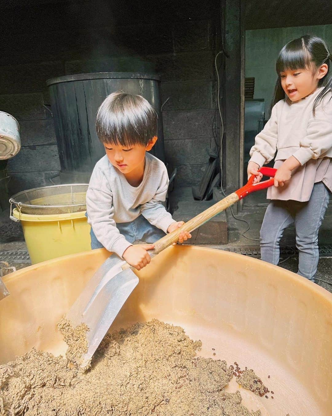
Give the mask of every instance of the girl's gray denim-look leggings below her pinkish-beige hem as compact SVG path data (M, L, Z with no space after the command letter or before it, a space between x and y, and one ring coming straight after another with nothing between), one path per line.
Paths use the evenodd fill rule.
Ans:
M273 200L266 208L261 226L261 260L278 264L283 231L294 223L298 274L314 280L319 259L318 231L329 203L330 192L315 183L308 202Z

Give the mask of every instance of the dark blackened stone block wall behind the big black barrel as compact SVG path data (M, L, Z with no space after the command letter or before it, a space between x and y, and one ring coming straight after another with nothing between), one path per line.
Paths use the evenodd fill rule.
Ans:
M122 3L121 5L119 3ZM197 185L216 136L219 2L52 1L2 6L0 109L17 118L22 149L8 163L12 193L50 185L60 169L46 79L84 72L161 74L166 161Z

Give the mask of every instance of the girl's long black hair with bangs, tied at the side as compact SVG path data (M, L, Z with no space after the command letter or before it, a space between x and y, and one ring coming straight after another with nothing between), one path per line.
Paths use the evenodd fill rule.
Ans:
M315 99L312 112L315 114L315 108L322 101L325 95L332 91L332 74L331 74L332 55L320 37L304 35L298 39L288 42L279 52L276 71L278 79L274 88L273 99L271 102L270 115L273 106L285 98L285 92L281 86L280 73L287 69L308 69L313 64L315 68L322 64L327 64L327 74L319 80L318 87L325 87Z

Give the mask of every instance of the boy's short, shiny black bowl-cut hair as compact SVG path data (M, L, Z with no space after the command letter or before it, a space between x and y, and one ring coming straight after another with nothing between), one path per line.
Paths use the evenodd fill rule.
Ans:
M157 119L156 111L141 95L116 91L100 105L96 131L105 144L146 146L156 136Z

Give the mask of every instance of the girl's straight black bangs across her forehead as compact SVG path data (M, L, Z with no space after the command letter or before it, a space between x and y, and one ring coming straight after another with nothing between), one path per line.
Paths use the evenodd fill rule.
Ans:
M296 69L308 69L309 67L310 56L308 51L291 44L287 44L283 47L276 62L276 71L278 75L287 70L295 71Z

